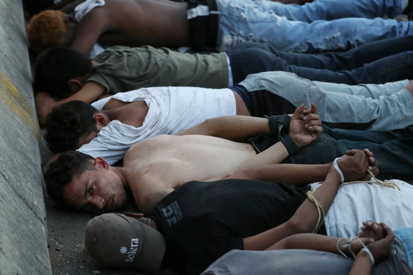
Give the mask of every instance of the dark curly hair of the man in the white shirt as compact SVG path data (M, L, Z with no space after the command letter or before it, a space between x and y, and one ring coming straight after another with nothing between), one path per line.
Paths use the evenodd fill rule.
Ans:
M78 148L83 135L97 132L92 105L73 100L53 108L46 117L45 140L52 152L60 153Z

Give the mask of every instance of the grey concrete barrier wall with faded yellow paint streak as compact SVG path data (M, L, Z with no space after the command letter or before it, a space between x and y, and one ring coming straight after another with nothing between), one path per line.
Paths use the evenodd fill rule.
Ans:
M52 274L22 3L0 1L0 274Z

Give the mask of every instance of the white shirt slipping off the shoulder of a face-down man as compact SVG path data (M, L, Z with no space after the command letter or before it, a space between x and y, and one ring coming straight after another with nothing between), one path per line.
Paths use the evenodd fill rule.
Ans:
M174 134L206 119L236 114L235 97L230 89L197 87L154 87L119 92L98 100L92 106L102 110L115 98L123 102L145 101L149 107L142 126L135 128L114 120L103 127L89 144L78 151L102 157L109 164L123 159L136 142L162 134Z

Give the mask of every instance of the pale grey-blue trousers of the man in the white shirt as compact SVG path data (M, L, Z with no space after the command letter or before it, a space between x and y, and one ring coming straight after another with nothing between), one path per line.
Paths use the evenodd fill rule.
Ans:
M407 80L356 86L311 82L281 71L251 74L240 83L253 97L255 93L266 94L263 106L252 99L254 116L259 116L254 110L266 115L291 114L294 107L315 102L323 122L367 123L370 130L392 130L413 124L413 97L404 89L409 84Z

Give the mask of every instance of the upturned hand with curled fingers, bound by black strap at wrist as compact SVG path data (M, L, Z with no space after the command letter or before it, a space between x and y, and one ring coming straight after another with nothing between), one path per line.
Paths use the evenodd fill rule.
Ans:
M323 132L317 106L311 103L311 109L301 104L292 115L289 135L299 148L309 145Z

